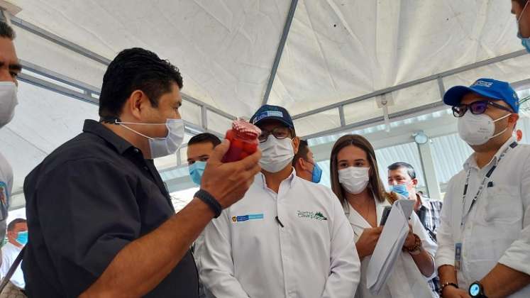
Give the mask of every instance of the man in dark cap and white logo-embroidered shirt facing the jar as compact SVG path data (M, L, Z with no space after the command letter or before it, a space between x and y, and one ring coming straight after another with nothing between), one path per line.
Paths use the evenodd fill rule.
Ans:
M199 275L217 298L354 297L360 262L331 189L297 177L292 118L262 106L262 172L245 197L205 230Z

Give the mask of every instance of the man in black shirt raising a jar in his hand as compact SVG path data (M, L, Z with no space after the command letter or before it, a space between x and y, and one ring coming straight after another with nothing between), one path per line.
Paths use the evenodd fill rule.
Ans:
M153 158L182 143L182 77L147 50L123 50L101 87L101 121L51 153L26 177L30 297L197 297L189 247L222 208L241 199L260 153L221 163L219 145L201 190L178 214Z

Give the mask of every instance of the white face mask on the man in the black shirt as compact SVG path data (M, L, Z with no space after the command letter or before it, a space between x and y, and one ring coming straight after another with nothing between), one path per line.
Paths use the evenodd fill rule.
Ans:
M184 121L182 119L167 119L165 123L131 123L118 121L116 123L134 133L138 133L138 131L123 124L165 125L167 127L167 136L165 138L151 138L150 136L138 133L138 135L148 138L151 158L162 158L177 152L180 145L182 145L182 140L184 140Z

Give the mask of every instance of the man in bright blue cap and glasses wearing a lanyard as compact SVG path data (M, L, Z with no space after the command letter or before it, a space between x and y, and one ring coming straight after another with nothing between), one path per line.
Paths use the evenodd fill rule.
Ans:
M436 264L443 297L530 297L530 146L512 136L519 99L477 79L443 101L474 153L448 184Z

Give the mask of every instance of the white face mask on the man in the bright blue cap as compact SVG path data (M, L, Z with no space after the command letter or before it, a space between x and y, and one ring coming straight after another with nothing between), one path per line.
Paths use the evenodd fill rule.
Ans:
M503 131L497 133L495 136L495 122L507 118L512 114L504 115L497 120L493 120L486 114L475 115L473 113L465 113L463 117L458 118L458 135L465 143L469 145L483 145L488 140L501 135L508 128L504 128Z

